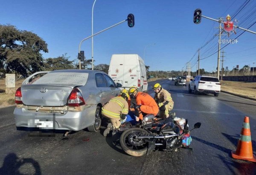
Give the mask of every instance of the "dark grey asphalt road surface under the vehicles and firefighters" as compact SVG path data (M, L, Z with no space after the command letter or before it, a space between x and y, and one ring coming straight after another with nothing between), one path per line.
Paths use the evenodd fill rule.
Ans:
M255 174L256 164L231 158L231 150L236 149L244 116L249 116L256 154L256 101L225 93L194 95L173 81L158 82L171 92L176 116L188 118L190 126L202 123L191 133L192 150L132 157L102 135L103 127L67 138L63 133L28 137L16 130L12 106L0 109L0 174ZM148 93L154 95L150 88Z

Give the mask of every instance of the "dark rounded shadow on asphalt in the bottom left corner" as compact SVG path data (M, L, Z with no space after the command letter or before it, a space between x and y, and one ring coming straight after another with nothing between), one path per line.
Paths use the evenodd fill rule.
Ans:
M40 165L37 161L32 158L20 159L15 153L6 155L3 161L3 166L0 168L0 175L22 175L22 166L26 166L24 174L34 173L35 175L41 175ZM31 171L28 172L29 170Z

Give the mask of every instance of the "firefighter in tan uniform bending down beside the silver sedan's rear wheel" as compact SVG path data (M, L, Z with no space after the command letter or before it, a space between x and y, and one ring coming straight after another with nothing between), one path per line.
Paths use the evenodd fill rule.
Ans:
M102 107L102 115L109 118L111 122L108 123L108 127L103 133L104 136L107 136L112 129L118 129L122 120L125 120L129 109L128 98L129 94L122 92L120 96L112 98Z

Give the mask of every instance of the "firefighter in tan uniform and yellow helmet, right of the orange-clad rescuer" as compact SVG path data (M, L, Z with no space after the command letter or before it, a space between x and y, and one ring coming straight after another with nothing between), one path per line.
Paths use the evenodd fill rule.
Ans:
M152 89L154 89L155 92L154 100L157 102L160 109L159 117L168 118L169 112L172 110L174 105L171 94L163 89L159 83L154 83Z

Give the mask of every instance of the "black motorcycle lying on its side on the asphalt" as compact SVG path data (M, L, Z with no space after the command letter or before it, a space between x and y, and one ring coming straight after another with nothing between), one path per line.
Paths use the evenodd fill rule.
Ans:
M183 121L183 122L180 122ZM194 129L201 123L195 123ZM153 150L177 151L181 147L189 148L192 141L188 128L188 119L167 118L156 121L154 115L146 115L140 125L132 126L125 122L120 127L122 149L132 156L150 154Z

